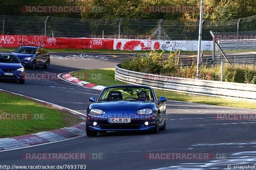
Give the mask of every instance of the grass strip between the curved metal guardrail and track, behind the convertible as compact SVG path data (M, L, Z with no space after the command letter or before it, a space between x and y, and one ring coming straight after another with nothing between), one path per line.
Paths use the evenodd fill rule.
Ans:
M97 85L110 86L110 85L125 85L125 83L115 80L115 69L95 69L95 70L81 70L73 72L73 75L81 80L94 83ZM86 75L81 78L79 75ZM98 76L95 76L98 75ZM202 103L216 106L229 106L240 108L256 109L256 102L249 101L236 101L220 97L209 97L201 95L189 95L178 92L155 90L157 97L165 96L169 100L187 101L193 103Z

